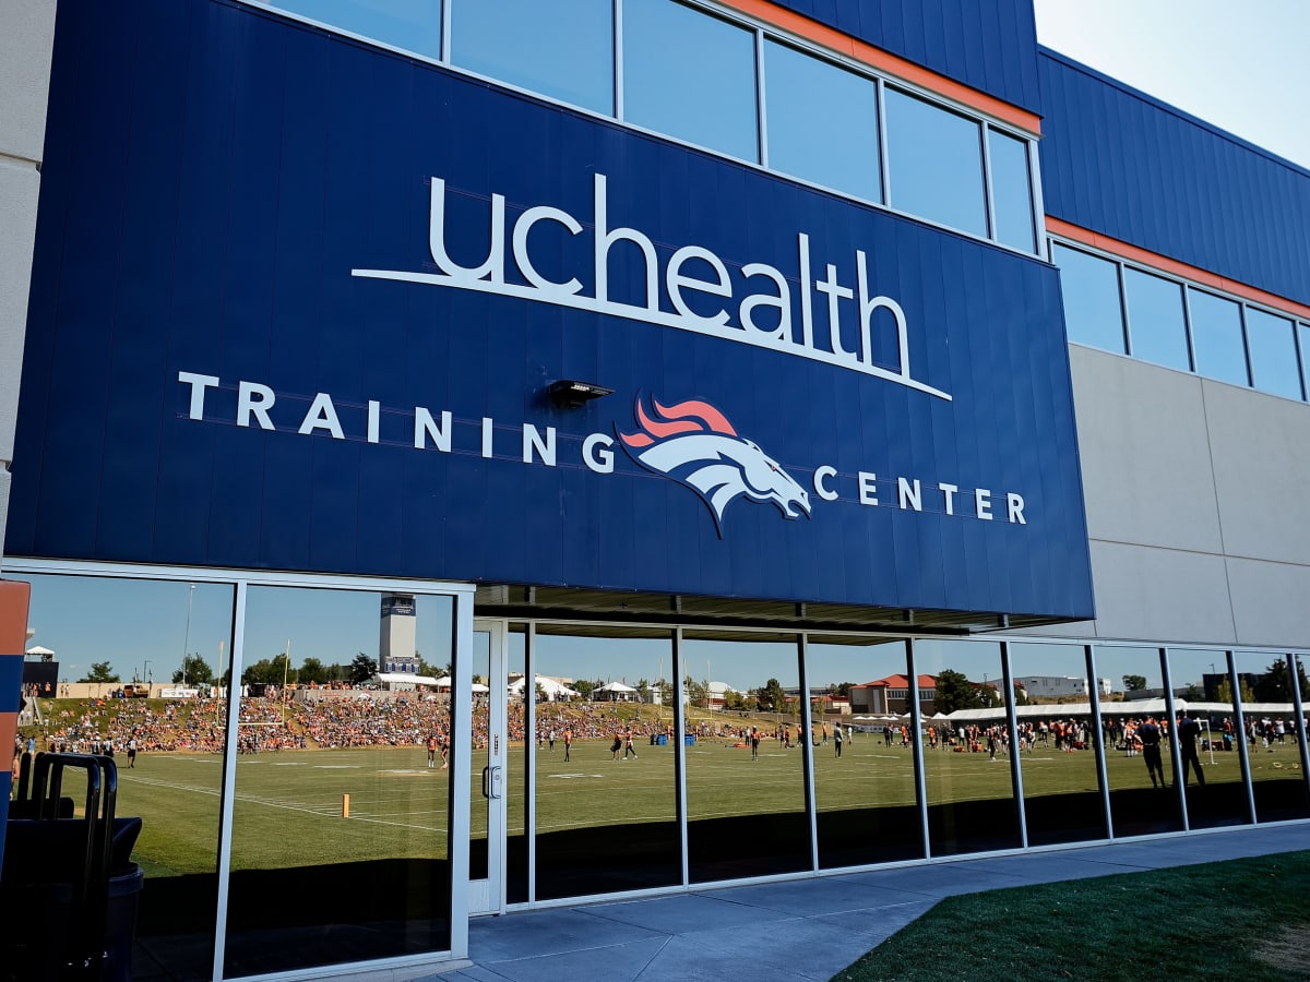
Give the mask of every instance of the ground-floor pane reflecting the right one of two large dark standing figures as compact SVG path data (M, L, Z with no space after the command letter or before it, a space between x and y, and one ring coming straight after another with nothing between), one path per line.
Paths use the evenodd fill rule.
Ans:
M1227 655L1170 648L1169 676L1188 826L1210 829L1250 821Z

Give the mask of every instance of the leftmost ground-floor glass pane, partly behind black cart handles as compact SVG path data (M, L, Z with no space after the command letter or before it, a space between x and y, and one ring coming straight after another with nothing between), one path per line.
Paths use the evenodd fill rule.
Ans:
M219 820L234 588L228 584L24 575L31 644L55 652L58 690L39 694L39 752L113 752L119 818L140 818L130 859L145 875L138 965L208 978L217 910ZM185 676L185 677L183 677ZM131 686L131 689L128 689ZM144 686L145 698L138 697ZM127 693L132 694L128 695ZM130 752L135 749L135 759ZM79 771L64 793L81 800ZM10 835L8 848L17 848ZM126 860L128 856L122 856ZM34 923L68 926L50 911ZM48 915L48 917L47 917Z

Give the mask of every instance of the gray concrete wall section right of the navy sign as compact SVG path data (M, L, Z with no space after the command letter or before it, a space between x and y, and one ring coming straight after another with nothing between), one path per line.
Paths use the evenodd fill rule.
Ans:
M1310 648L1310 406L1070 346L1096 621Z

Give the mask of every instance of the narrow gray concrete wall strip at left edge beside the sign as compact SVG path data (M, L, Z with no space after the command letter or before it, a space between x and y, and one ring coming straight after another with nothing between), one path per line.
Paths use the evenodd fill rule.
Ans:
M0 559L9 511L9 466L28 288L37 234L37 196L46 141L50 56L56 0L0 3Z

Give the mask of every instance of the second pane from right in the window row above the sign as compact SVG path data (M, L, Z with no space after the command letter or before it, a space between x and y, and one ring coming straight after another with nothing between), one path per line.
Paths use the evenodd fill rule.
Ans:
M891 206L985 238L979 123L896 89L886 111Z

